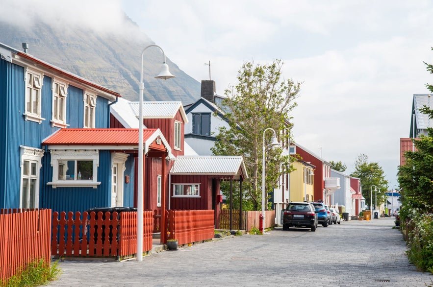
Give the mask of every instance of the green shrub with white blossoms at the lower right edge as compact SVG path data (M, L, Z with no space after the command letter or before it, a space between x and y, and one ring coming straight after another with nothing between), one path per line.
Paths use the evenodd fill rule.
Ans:
M423 271L433 273L433 214L412 213L408 230L408 259Z

